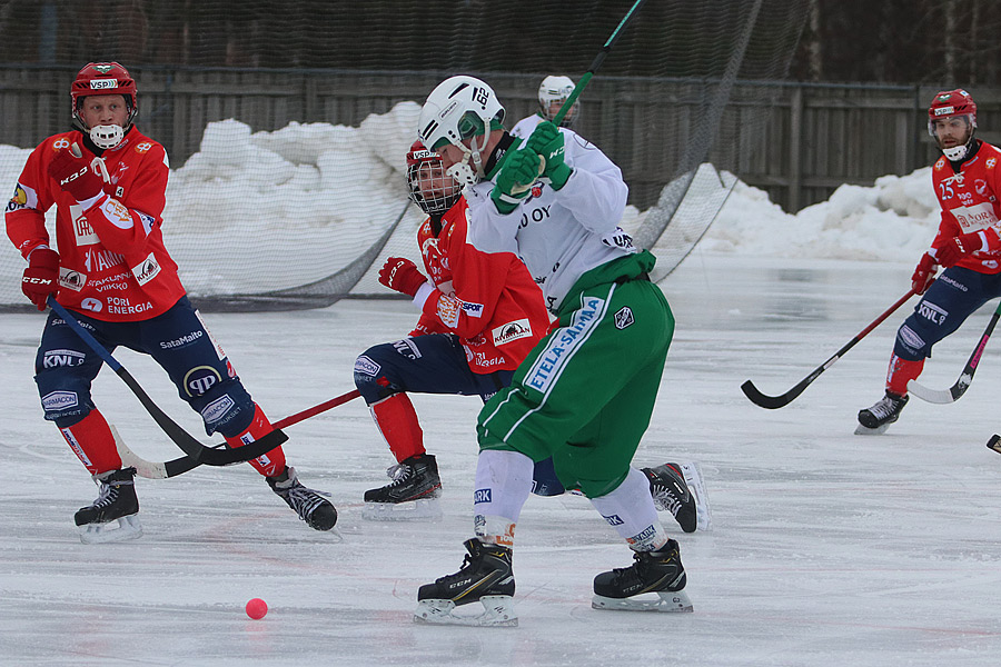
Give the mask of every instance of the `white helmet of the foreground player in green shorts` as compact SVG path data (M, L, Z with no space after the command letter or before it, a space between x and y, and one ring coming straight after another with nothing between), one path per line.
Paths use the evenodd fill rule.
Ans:
M504 107L493 88L475 77L449 77L427 96L417 121L417 137L430 150L449 143L460 148L466 157L449 167L448 173L472 186L486 177L480 151L486 147L490 130L499 128L503 120ZM479 136L483 141L477 146L475 138ZM470 146L463 143L470 138Z

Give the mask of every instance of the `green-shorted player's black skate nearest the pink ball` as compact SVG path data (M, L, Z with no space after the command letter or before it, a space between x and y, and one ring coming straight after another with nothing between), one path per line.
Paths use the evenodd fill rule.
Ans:
M485 545L475 537L464 545L469 554L459 571L435 579L434 584L425 584L417 591L414 620L442 625L518 625L512 604L515 584L511 570L511 549ZM479 616L453 615L457 606L475 601L484 607Z

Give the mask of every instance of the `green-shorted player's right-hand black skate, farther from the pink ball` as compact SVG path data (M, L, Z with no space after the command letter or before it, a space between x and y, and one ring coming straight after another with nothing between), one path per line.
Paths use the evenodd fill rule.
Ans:
M658 551L637 551L630 567L615 568L594 578L595 609L631 611L692 611L692 601L683 590L687 583L677 542L668 539ZM656 598L636 599L645 593Z

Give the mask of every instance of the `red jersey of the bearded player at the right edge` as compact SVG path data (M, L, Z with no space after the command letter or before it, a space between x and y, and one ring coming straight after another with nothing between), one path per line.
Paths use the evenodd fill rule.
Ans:
M1001 272L1001 150L981 141L977 155L959 171L942 156L932 167L932 183L942 207L932 248L963 233L983 231L981 249L955 266L981 273Z

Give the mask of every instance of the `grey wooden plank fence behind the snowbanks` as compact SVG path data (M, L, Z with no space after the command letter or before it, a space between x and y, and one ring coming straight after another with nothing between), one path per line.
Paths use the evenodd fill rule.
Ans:
M0 67L0 143L33 147L69 126L76 69ZM139 123L180 166L208 122L236 118L254 131L291 121L357 126L399 101L422 101L449 72L358 70L136 69ZM541 74L480 74L508 119L535 110ZM596 77L577 128L622 168L631 202L646 208L693 142L711 100L693 80ZM938 151L925 109L951 86L829 86L737 81L710 161L767 190L785 210L826 199L842 183L869 186L929 165ZM1001 139L1001 89L977 89L979 136ZM997 128L997 130L992 130ZM695 146L697 149L698 147Z

